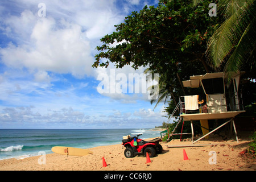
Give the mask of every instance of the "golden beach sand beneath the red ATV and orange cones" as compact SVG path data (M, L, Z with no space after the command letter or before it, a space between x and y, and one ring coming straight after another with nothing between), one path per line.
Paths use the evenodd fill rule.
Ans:
M60 154L47 154L46 164L38 162L42 156L32 156L25 159L0 160L0 170L5 171L255 171L256 161L245 160L240 157L240 152L248 147L251 140L241 137L239 143L235 139L222 140L210 138L200 140L196 144L211 144L203 147L175 147L170 145L192 144L191 141L171 140L161 142L162 154L150 158L151 163L146 164L143 155L126 158L123 154L125 148L121 143L112 146L90 148L93 154L86 156L67 156ZM188 160L184 160L185 150ZM216 152L216 164L209 164L210 151ZM102 167L102 157L108 166ZM211 160L213 161L213 160Z

